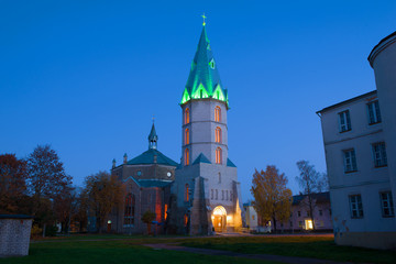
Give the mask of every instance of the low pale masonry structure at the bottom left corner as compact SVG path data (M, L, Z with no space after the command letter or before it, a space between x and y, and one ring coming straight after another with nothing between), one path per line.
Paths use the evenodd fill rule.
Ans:
M29 254L32 221L29 216L0 215L0 256Z

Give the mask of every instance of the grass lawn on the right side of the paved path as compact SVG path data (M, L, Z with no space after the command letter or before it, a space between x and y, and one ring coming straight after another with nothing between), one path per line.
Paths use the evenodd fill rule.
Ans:
M239 237L185 240L182 245L249 254L302 256L354 263L396 263L395 251L336 245L331 237Z

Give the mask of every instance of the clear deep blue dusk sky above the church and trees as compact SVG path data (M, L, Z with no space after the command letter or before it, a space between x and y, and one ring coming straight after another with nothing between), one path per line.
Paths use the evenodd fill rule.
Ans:
M147 150L182 156L185 88L202 28L229 90L242 199L254 168L326 172L316 111L375 89L366 61L396 1L0 0L0 154L51 144L75 185Z

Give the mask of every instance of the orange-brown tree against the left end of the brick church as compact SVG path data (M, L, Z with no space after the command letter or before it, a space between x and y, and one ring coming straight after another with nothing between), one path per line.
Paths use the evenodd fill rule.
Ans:
M88 207L94 212L99 232L112 208L121 205L124 197L124 187L117 176L107 172L90 175L85 180L88 195Z

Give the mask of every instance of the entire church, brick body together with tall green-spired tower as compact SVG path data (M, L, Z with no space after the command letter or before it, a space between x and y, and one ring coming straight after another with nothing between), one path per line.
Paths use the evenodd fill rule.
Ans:
M243 224L237 166L229 158L228 90L221 84L204 21L197 52L180 100L182 160L157 150L153 124L148 151L117 166L112 175L125 185L121 209L108 230L142 233L141 217L155 212L158 233L210 234L239 231Z

